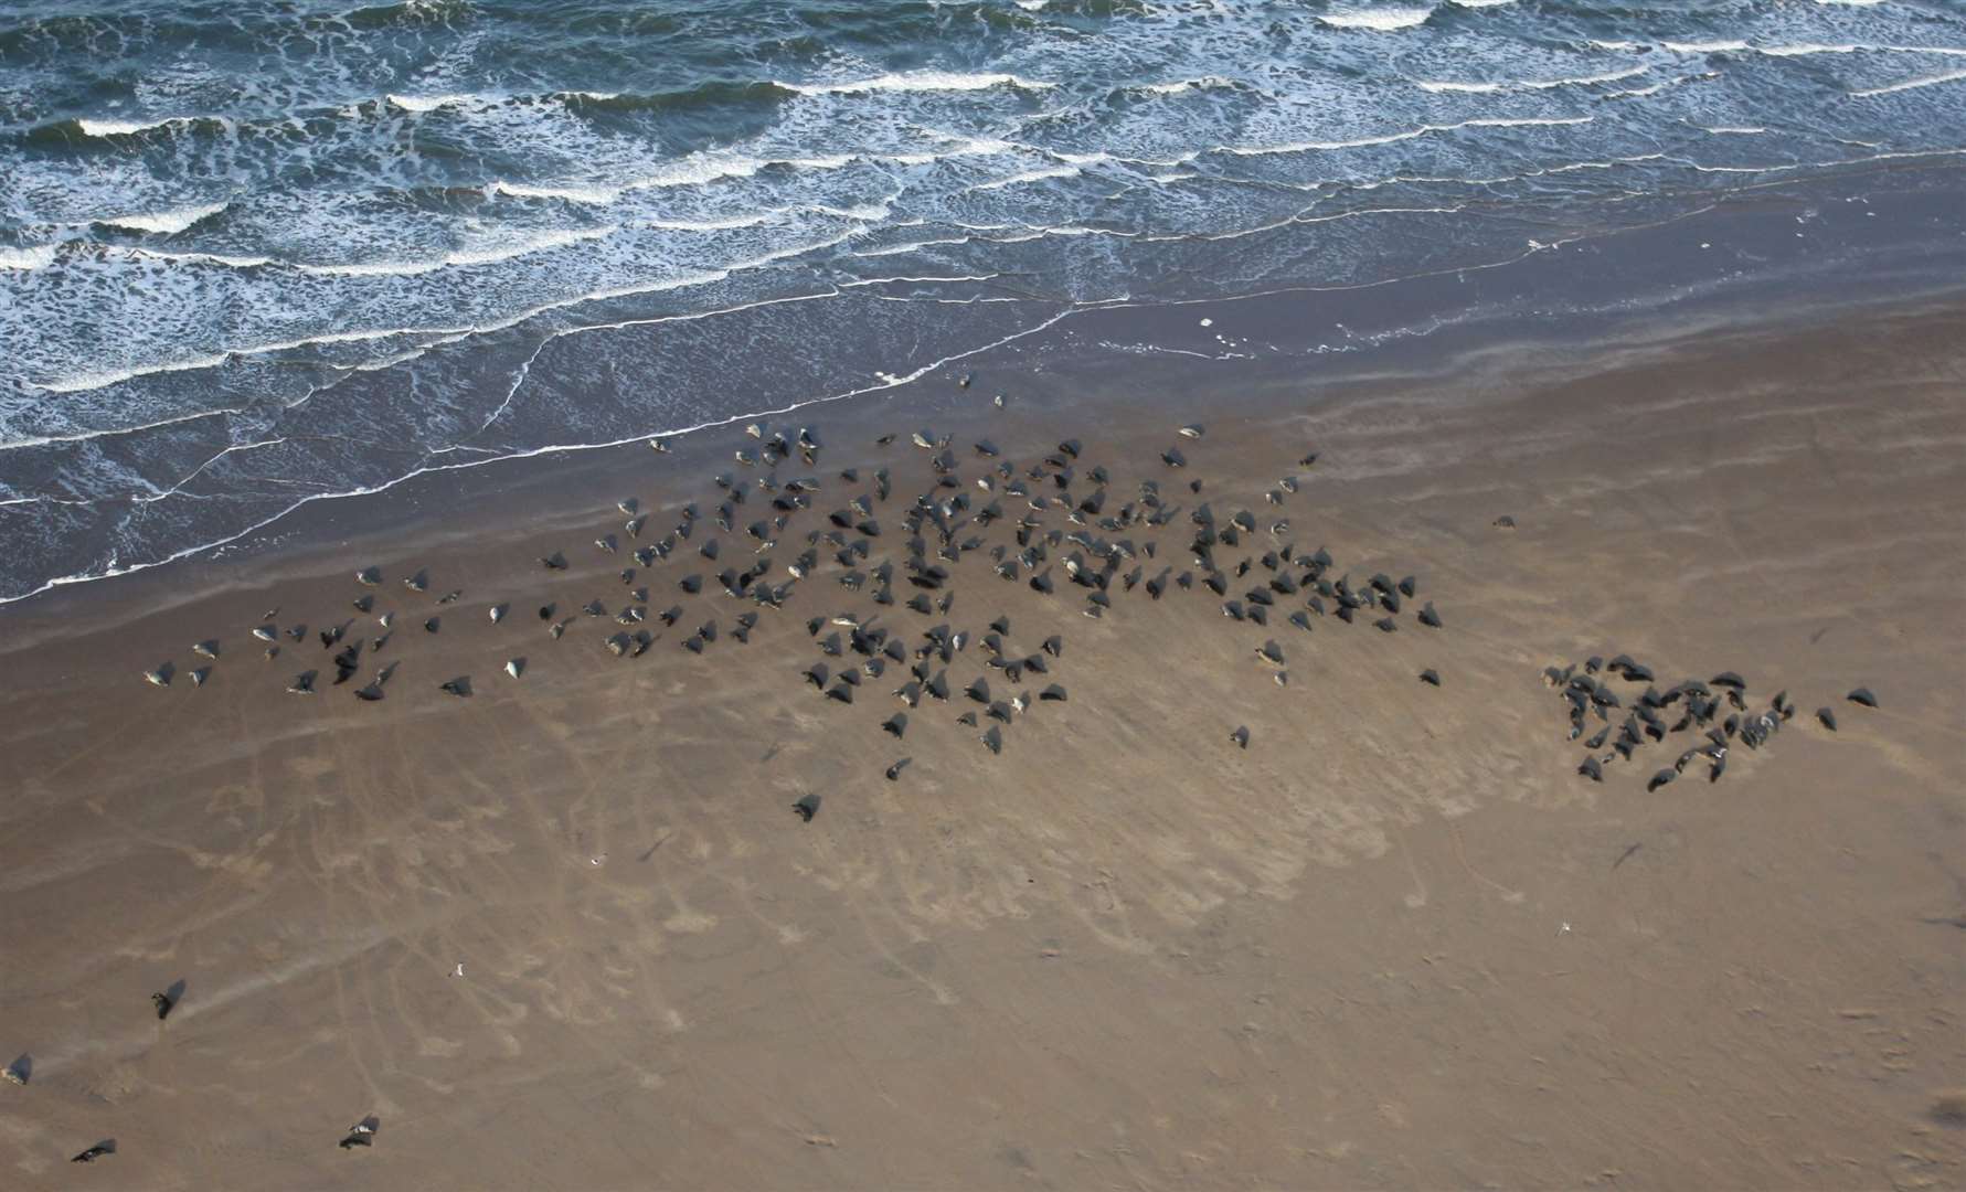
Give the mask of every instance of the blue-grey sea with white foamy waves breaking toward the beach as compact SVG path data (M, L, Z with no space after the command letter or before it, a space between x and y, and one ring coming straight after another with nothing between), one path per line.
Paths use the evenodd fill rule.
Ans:
M0 602L1962 153L1956 0L6 2Z

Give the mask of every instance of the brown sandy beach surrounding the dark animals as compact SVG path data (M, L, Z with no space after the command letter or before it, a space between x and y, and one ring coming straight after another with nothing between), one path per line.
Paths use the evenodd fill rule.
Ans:
M1062 570L1044 598L971 555L948 618L879 612L910 645L999 614L1020 653L1064 635L1016 686L1070 700L1018 716L1001 757L955 724L977 645L898 744L896 669L851 706L798 679L822 661L808 616L877 612L832 563L749 645L710 594L643 659L602 651L611 622L547 637L545 600L621 602L623 559L590 545L619 531L611 498L653 531L684 500L708 513L708 476L753 447L735 431L572 468L558 500L535 470L503 529L480 502L8 610L0 1048L31 1078L0 1086L6 1184L1962 1186L1966 1131L1937 1111L1966 1084L1956 321L1708 334L1583 372L1512 350L1315 395L1219 364L1146 386L1052 366L936 380L922 417L893 413L908 393L814 411L820 466L781 476L828 484L777 578L865 488L834 480L849 464L895 466L875 545L898 563L928 458L906 433L940 423L965 480L979 435L1020 466L1075 435L1115 498L1160 480L1184 515L1130 537L1176 570L1201 478L1219 515L1288 515L1355 580L1417 574L1447 622L1305 635L1286 600L1264 629L1199 584L1095 622ZM1170 472L1184 421L1207 437ZM1307 448L1301 492L1262 504ZM574 570L541 570L550 549ZM747 559L665 563L651 606ZM303 667L326 686L328 655L311 637L265 663L248 627L352 616L370 563L407 610L389 698L283 694ZM716 645L676 649L712 616ZM224 653L193 690L204 637ZM1618 651L1661 683L1740 671L1754 706L1787 688L1801 716L1718 785L1697 763L1648 795L1667 745L1590 785L1541 669ZM165 657L179 679L142 683ZM474 698L436 690L466 673ZM1883 706L1844 702L1858 685ZM159 1025L145 997L173 980ZM366 1113L376 1145L338 1151Z

